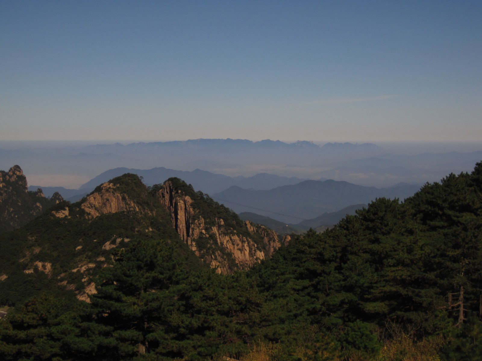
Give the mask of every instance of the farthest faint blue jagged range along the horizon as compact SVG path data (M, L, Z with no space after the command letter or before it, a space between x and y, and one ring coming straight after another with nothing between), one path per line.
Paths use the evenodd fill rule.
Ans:
M136 142L123 145L96 144L82 148L82 153L109 154L142 159L143 164L162 164L166 168L194 170L204 168L206 162L214 170L236 168L239 165L297 164L308 166L328 159L344 160L353 156L374 156L383 150L373 143L326 143L308 141L286 143L269 139L253 142L246 139L191 139L173 142Z

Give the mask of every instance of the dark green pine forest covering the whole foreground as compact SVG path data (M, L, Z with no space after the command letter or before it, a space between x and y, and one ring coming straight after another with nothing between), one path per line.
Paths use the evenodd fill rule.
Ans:
M218 274L173 241L131 240L97 273L91 303L47 290L16 305L0 357L481 360L481 227L478 163L308 231L250 271Z

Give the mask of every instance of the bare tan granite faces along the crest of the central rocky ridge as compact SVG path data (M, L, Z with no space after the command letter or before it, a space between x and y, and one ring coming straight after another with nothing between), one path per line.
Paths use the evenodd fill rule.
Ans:
M121 177L101 184L81 202L80 207L88 218L122 211L135 211L139 217L155 216L156 207L161 206L169 213L172 227L184 243L220 273L248 269L271 257L287 242L287 238L279 240L277 233L267 227L243 222L231 210L207 195L194 192L177 178L165 181L150 193L146 188L135 195L131 194L132 188L124 192L119 179ZM150 206L145 206L147 204ZM69 209L52 214L58 218L68 217Z

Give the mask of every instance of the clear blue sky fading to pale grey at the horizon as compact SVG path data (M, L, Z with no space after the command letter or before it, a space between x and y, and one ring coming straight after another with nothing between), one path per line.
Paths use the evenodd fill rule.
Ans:
M482 1L0 1L0 140L480 141Z

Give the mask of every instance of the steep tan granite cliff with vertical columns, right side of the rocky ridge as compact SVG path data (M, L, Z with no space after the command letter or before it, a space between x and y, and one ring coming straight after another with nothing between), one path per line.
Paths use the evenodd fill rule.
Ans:
M156 192L181 239L196 255L212 267L217 267L218 272L247 269L271 257L281 244L287 242L287 239L280 241L276 232L267 227L249 221L227 223L221 217L208 220L201 211L201 202L206 200L206 196L199 193L192 195L197 199L193 200L176 189L174 182L169 180Z

